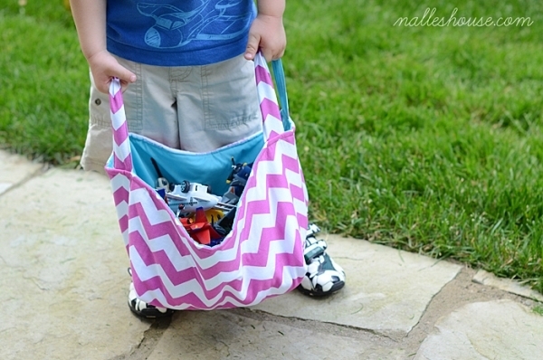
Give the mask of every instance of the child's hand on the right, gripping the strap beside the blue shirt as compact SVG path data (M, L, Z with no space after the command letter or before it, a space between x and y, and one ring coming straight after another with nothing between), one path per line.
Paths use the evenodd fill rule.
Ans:
M252 60L260 48L266 62L280 59L287 46L287 36L281 16L259 14L249 30L245 59Z

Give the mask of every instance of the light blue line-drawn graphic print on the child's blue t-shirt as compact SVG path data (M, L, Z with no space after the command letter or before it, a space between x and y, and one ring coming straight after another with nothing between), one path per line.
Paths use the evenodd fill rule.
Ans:
M138 12L155 20L145 33L145 43L157 49L172 49L198 40L228 40L246 32L247 14L229 14L244 0L180 1L179 6L138 3ZM185 4L184 4L185 3ZM196 6L193 4L197 4ZM232 12L233 13L233 12Z

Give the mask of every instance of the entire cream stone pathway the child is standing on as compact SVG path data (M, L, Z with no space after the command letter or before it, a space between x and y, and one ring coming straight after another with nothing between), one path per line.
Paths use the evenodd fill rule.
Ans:
M538 359L541 294L450 261L325 236L329 298L141 320L103 175L0 152L1 359Z

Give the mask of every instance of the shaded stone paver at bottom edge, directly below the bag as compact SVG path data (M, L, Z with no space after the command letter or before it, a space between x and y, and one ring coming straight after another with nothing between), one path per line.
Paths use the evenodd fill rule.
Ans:
M230 311L177 313L148 360L405 359L371 337L353 338L255 320Z

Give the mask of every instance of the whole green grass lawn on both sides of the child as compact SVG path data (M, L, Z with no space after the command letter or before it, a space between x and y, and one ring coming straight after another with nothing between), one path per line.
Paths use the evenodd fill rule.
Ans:
M33 3L0 0L0 144L74 166L87 66L62 2ZM426 7L533 24L394 26ZM285 26L311 218L543 292L543 3L299 0Z

